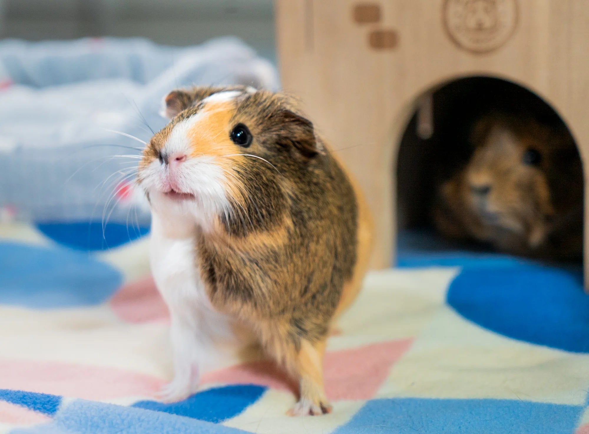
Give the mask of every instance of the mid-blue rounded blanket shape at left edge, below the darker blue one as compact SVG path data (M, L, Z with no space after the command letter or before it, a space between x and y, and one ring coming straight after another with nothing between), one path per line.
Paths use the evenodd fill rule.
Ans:
M0 304L30 308L96 305L123 282L121 273L85 252L0 243Z

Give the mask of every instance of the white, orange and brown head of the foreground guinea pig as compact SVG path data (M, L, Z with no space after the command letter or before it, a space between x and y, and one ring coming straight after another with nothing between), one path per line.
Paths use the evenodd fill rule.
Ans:
M250 87L175 90L165 104L170 123L138 170L152 210L204 229L276 224L288 183L320 152L313 124L285 96Z

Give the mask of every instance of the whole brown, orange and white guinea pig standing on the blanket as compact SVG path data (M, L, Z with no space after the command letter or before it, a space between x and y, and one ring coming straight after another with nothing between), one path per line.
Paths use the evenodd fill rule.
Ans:
M327 335L372 245L360 191L283 94L196 87L165 102L171 121L138 169L151 267L171 314L175 374L163 398L195 392L214 344L245 329L299 381L290 415L330 412Z

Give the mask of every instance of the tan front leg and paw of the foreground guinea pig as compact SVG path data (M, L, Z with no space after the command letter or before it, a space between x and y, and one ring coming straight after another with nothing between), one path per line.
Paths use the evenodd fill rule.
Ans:
M323 356L325 339L316 343L300 341L300 349L291 353L294 360L287 360L287 365L294 367L299 377L299 402L287 412L289 416L317 416L331 413L332 406L325 396L323 386Z

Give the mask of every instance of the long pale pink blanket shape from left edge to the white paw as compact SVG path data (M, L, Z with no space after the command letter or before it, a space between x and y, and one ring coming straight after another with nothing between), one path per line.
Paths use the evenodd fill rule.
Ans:
M57 361L0 360L0 388L84 399L153 396L163 380L111 367Z

